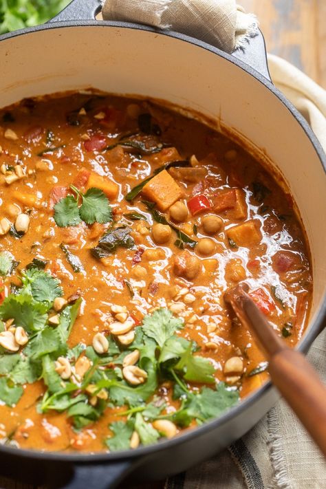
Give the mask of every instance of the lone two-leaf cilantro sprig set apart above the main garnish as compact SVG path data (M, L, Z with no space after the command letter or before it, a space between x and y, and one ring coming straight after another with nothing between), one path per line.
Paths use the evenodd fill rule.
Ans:
M74 185L70 189L75 195L67 195L54 206L54 221L57 226L78 226L86 224L106 224L112 220L112 209L105 193L100 188L89 188L86 193L80 192Z

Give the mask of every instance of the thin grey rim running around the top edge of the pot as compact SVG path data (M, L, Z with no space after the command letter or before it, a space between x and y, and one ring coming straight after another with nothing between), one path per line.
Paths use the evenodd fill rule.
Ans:
M96 27L96 28L127 28L132 30L140 30L146 32L153 32L155 35L169 36L177 41L183 41L197 47L201 47L202 49L212 52L221 58L224 58L226 61L236 65L243 71L247 72L253 78L259 81L262 85L265 86L266 89L270 90L276 98L278 98L283 105L286 107L288 111L292 114L292 116L296 119L298 124L301 125L305 135L309 138L312 146L314 146L314 150L318 155L318 159L320 160L320 164L323 166L324 173L326 174L326 155L323 151L323 148L316 138L316 135L313 133L312 129L309 127L309 124L303 118L301 113L299 113L296 108L292 105L292 103L287 100L287 98L277 89L273 83L265 78L262 74L257 72L256 69L252 68L249 64L241 61L239 58L232 56L232 54L227 54L217 47L204 43L204 41L199 41L191 36L186 36L185 34L180 34L178 32L173 31L165 31L165 30L157 30L155 28L151 28L147 25L140 25L136 23L129 22L118 22L118 21L61 21L61 22L51 22L43 25L38 25L33 28L25 28L19 31L14 31L8 34L3 34L0 37L1 41L6 41L8 39L13 39L18 36L25 36L28 34L34 34L36 32L41 32L49 29L56 28L80 28L80 27ZM323 322L326 320L326 292L323 296L322 305L318 309L316 313L316 317L311 324L309 324L309 330L303 336L303 339L297 345L298 351L303 351L307 353L309 347L312 345L312 342L318 336L318 333L321 331L323 327ZM154 452L160 452L160 450L164 450L166 448L172 448L173 446L181 445L191 440L199 435L205 435L206 432L210 431L213 428L217 428L218 426L225 424L232 420L233 417L237 415L241 415L243 411L250 408L250 406L254 405L259 398L261 398L266 393L270 392L273 389L272 382L268 380L260 389L254 391L254 393L248 395L245 399L241 400L241 402L232 407L229 411L224 413L223 415L211 420L210 422L206 422L202 426L197 426L196 428L192 428L189 431L184 431L180 435L173 439L162 440L162 442L158 442L157 444L153 444L150 446L144 446L137 448L136 450L123 450L120 452L106 453L106 452L96 452L96 453L65 453L61 452L45 452L41 450L25 450L23 448L12 448L10 446L0 446L0 455L10 455L13 457L23 457L26 459L36 459L41 461L61 461L66 463L94 463L96 462L109 462L109 461L119 461L121 459L138 459L142 456L153 454Z

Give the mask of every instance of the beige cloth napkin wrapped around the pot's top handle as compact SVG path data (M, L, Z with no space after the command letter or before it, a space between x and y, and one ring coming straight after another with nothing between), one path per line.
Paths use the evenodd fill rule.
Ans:
M257 34L257 19L235 0L107 0L105 20L127 21L171 29L226 52L245 46Z

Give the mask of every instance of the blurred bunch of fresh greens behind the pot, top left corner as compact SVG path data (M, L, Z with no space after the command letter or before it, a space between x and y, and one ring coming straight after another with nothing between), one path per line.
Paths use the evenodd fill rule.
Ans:
M63 10L69 0L8 0L0 3L0 34L43 24Z

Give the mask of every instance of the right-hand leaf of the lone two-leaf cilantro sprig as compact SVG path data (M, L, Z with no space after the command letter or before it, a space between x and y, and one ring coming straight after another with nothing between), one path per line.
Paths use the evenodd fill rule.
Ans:
M89 188L82 195L83 204L80 206L80 217L86 224L94 224L98 222L105 224L112 219L112 210L109 205L109 200L99 188Z

